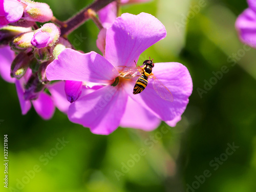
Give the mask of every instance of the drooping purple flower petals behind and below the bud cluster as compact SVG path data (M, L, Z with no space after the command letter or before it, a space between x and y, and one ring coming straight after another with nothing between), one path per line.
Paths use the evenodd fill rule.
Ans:
M22 114L25 115L31 109L31 103L34 106L35 111L43 119L50 119L55 111L55 105L60 111L67 113L70 103L66 99L64 92L65 82L56 82L48 87L51 96L39 92L36 95L36 99L29 100L26 99L26 91L24 89L24 84L26 84L31 77L31 69L28 69L26 74L19 80L11 78L11 63L15 57L15 54L9 47L4 47L0 49L0 75L4 80L14 83L16 86L16 91L20 103L20 108L22 109Z

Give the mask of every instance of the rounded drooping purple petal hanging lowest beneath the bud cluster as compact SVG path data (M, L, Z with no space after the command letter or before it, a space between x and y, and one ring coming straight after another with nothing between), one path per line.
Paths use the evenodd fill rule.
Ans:
M52 118L55 111L55 106L50 95L42 92L39 94L36 100L32 100L32 103L35 111L39 116L41 116L41 118L46 120Z

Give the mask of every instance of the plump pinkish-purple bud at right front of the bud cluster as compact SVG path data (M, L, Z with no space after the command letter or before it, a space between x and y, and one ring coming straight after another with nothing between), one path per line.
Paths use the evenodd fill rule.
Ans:
M52 47L59 35L60 29L56 25L48 23L34 32L31 44L36 48Z

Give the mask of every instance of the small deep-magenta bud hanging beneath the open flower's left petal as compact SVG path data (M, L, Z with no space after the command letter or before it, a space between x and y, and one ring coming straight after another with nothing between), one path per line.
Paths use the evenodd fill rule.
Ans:
M66 81L65 82L65 93L70 103L75 102L82 93L82 82L81 81Z

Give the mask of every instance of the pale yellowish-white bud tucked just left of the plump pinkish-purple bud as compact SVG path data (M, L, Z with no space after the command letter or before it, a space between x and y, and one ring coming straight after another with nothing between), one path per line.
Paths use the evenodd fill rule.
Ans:
M14 37L11 48L16 50L24 50L30 48L31 45L31 39L33 38L34 32L27 32L22 33Z

